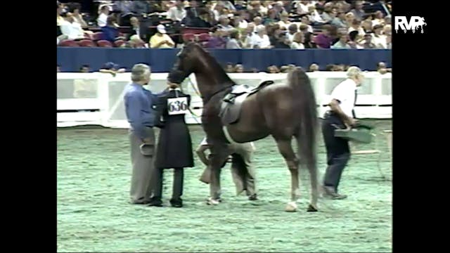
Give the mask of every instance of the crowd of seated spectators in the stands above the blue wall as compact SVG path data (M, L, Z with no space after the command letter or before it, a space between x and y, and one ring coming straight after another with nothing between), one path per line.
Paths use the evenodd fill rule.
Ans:
M391 48L390 1L57 2L59 46ZM84 6L83 6L84 7ZM84 8L86 9L86 8ZM185 27L206 32L183 36Z

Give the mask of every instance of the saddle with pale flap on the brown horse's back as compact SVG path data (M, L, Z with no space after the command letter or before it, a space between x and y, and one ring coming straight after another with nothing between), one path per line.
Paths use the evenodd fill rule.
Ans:
M257 93L270 84L274 84L274 81L262 82L254 88L246 84L233 86L233 90L226 94L226 96L221 100L219 117L221 118L222 124L224 124L224 126L228 126L238 122L240 117L240 108L242 107L242 103L245 98Z

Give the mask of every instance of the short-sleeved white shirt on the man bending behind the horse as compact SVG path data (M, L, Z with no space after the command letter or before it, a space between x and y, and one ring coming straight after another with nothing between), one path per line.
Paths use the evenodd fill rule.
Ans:
M352 79L346 79L345 81L335 86L335 89L331 92L331 99L338 100L340 102L340 108L347 116L352 117L352 110L354 108L354 98L356 93L356 82Z

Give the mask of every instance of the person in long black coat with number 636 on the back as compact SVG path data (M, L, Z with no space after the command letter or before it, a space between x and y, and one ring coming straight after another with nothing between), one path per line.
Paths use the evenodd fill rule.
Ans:
M184 167L193 167L191 135L184 121L184 115L191 105L191 96L181 92L178 84L168 82L169 89L161 93L156 126L161 128L158 137L158 152L155 161L155 190L150 206L162 207L162 172L174 169L172 207L182 207Z

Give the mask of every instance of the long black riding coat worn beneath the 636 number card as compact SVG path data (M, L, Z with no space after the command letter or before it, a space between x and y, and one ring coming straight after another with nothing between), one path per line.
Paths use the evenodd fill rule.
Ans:
M182 93L179 89L171 89L162 93L158 99L158 117L156 126L161 127L158 136L158 149L156 152L155 166L159 169L193 167L193 152L191 134L184 120L185 114L169 115L168 98L186 97L191 105L191 96ZM177 110L180 105L172 105L172 110Z

